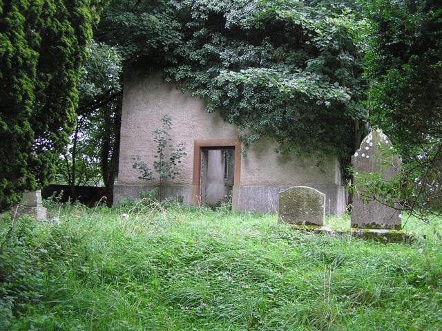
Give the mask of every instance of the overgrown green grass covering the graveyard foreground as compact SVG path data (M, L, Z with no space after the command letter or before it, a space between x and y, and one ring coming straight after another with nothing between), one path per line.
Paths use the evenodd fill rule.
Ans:
M1 220L1 330L442 330L440 219L404 218L403 245L223 208L49 213Z

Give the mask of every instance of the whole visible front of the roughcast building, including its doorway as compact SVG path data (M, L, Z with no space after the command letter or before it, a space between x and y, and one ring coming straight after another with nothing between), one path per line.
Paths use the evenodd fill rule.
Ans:
M327 156L317 167L313 157L276 153L277 145L271 140L252 144L244 157L235 125L224 122L218 113L207 113L204 100L165 83L159 73L139 70L126 74L124 81L114 203L123 197L139 197L140 191L157 185L139 178L133 158L140 156L153 169L154 131L162 127L164 115L171 117L175 146L185 142L187 154L179 176L165 183L163 197L180 196L187 204L204 205L217 194L230 193L233 210L274 212L278 211L280 191L307 186L325 193L327 213L345 211L346 194L336 158Z

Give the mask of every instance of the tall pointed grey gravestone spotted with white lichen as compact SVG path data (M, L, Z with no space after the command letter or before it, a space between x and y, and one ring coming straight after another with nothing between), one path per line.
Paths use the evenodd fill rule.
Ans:
M362 173L380 173L385 180L394 177L401 169L401 159L388 153L392 143L381 129L373 130L363 139L361 148L352 156L355 171L352 207L352 227L365 229L401 229L400 211L376 201L364 201L363 187L358 187L358 175ZM361 186L361 185L360 185Z

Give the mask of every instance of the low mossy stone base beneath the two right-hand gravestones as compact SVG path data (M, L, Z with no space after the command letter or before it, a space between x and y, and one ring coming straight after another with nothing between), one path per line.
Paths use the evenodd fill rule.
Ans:
M329 227L318 225L291 225L292 229L298 231L305 231L309 234L328 234L338 238L345 236L352 236L363 240L375 240L382 243L411 243L413 240L412 234L405 234L402 230L396 229L349 229L335 231Z

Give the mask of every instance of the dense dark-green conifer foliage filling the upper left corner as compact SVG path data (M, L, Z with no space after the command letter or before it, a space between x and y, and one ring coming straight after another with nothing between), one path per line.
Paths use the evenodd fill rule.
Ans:
M75 124L99 1L0 1L0 209L48 183Z

